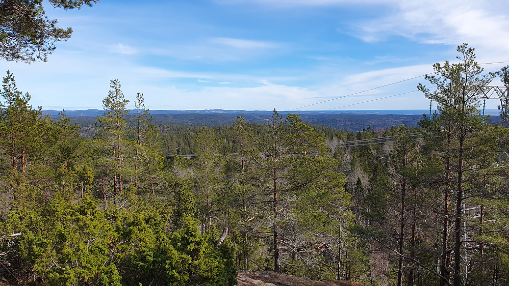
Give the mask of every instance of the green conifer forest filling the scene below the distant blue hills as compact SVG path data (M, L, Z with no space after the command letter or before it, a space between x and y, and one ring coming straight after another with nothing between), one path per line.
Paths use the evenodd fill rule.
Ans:
M0 118L0 283L234 285L238 270L365 285L509 285L507 105L473 49L434 65L416 127L155 124L111 81L86 132L9 71ZM106 93L106 92L105 92ZM509 103L507 93L501 101ZM86 136L85 136L86 135Z

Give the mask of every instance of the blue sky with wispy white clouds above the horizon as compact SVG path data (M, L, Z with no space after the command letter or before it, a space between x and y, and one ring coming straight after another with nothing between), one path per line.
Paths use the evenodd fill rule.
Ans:
M115 78L130 108L141 92L166 110L427 109L416 86L432 64L455 62L457 45L475 48L486 73L509 64L484 64L509 61L506 0L44 5L71 38L45 63L1 60L0 71L45 110L102 109Z

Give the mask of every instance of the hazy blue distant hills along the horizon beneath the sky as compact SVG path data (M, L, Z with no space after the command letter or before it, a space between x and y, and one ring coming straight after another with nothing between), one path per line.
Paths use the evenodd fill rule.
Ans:
M420 112L421 113L417 113ZM44 110L44 114L52 117L58 116L60 111ZM67 116L82 127L93 127L97 115L102 115L103 110L69 110ZM425 110L349 110L349 111L281 111L281 115L297 113L302 121L343 129L347 131L362 131L368 126L372 129L386 129L393 126L406 124L417 126L423 119ZM394 112L394 113L386 113ZM429 112L429 111L428 111ZM150 110L155 125L180 125L180 126L219 126L232 124L237 116L242 115L247 122L264 123L272 116L272 111L246 111L246 110ZM416 114L417 113L417 114ZM500 122L498 116L491 117L492 123Z

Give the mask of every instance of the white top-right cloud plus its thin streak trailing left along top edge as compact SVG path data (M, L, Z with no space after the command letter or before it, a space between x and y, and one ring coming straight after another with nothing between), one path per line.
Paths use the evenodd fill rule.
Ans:
M292 9L348 7L373 10L384 8L370 19L349 23L349 34L365 42L385 41L402 36L425 44L469 43L483 60L506 60L509 54L509 5L506 0L216 0L220 4L246 2L271 8ZM370 13L370 15L373 15ZM348 33L339 28L338 33ZM453 52L453 51L451 51Z

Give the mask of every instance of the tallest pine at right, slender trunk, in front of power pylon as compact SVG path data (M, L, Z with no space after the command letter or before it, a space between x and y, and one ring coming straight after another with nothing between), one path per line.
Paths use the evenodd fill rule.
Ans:
M422 84L419 84L418 88L427 98L438 102L440 115L429 122L423 122L422 126L434 132L441 143L437 146L445 162L444 221L448 220L449 216L449 192L454 208L451 214L454 220L452 280L454 286L461 286L467 279L462 252L467 246L464 239L467 229L464 224L469 223L463 212L465 204L471 203L472 198L489 192L490 188L485 185L486 179L494 177L486 176L494 173L491 168L495 159L490 153L490 145L495 144L496 140L493 133L490 133L491 127L483 124L477 110L479 95L494 75L481 76L482 68L475 61L474 49L467 47L467 44L458 46L457 51L460 53L460 56L457 56L459 63L437 63L434 65L437 75L426 76L427 80L438 86L436 91L431 92ZM447 225L447 222L444 224ZM449 284L445 225L441 285Z

